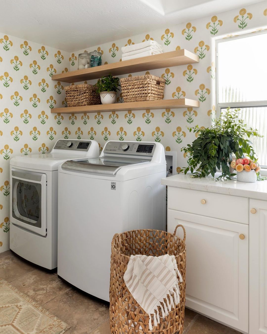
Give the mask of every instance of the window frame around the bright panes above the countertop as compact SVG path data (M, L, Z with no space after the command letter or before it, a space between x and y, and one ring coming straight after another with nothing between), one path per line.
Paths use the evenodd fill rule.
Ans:
M215 75L215 94L216 94L216 116L219 117L221 114L221 110L227 107L230 108L253 108L253 107L267 107L267 100L264 101L249 101L249 102L219 102L219 72L218 72L218 45L219 43L228 42L229 40L235 40L240 38L251 37L255 35L267 34L266 30L250 32L247 34L242 34L238 36L232 36L228 38L221 38L216 39L216 46L215 46L215 68L216 68L216 75ZM261 166L261 175L267 176L267 166Z

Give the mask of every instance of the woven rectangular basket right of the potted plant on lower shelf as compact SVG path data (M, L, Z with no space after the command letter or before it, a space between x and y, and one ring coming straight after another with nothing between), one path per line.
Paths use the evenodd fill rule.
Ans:
M124 102L162 100L165 79L156 75L138 75L120 79Z

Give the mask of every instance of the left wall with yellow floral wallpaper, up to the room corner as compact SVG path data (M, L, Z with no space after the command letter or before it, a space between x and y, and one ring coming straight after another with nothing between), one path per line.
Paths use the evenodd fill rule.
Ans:
M64 137L63 85L51 75L69 66L68 52L0 33L0 252L9 248L9 161L47 153ZM68 129L66 129L68 131Z

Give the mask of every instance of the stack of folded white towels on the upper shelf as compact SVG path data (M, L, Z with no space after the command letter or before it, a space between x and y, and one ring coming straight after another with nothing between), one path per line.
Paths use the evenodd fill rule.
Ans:
M162 46L153 40L148 40L138 44L126 45L121 48L121 60L129 60L163 53Z

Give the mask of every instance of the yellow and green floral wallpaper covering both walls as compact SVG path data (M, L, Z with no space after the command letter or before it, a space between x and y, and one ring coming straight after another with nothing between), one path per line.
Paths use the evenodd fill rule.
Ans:
M266 26L267 2L264 1L145 31L128 39L93 47L85 45L84 49L71 53L0 33L0 252L9 248L10 158L46 154L59 138L95 139L99 151L107 140L157 141L166 151L177 151L179 172L186 164L181 147L195 138L188 127L209 126L216 113L215 39L258 31ZM160 43L164 52L185 48L198 55L199 63L150 72L166 79L165 99L196 99L200 102L199 108L75 115L50 113L50 108L67 106L64 86L68 85L52 81L51 76L76 70L79 53L96 49L102 53L103 63L111 63L120 61L121 46L150 39ZM146 73L149 72L128 75ZM123 102L120 93L116 102Z

